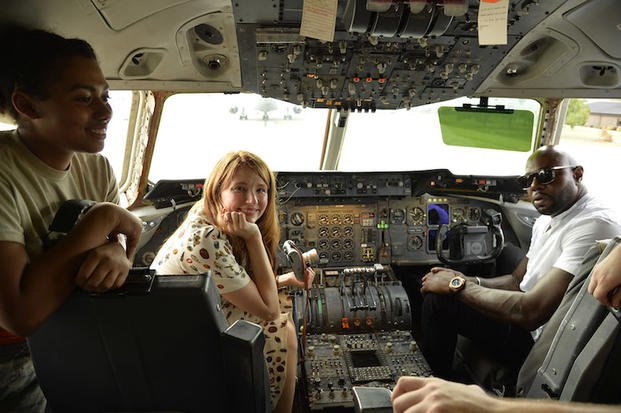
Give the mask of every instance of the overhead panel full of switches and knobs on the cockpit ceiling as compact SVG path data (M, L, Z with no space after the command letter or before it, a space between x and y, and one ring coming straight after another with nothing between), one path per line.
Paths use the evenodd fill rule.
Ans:
M563 1L512 0L506 42L493 52L479 45L478 1L341 0L331 39L300 35L301 3L234 2L245 88L307 107L373 112L472 95Z

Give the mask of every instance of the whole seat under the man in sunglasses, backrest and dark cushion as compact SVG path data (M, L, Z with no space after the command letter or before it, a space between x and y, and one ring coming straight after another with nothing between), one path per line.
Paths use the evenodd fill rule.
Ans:
M620 243L621 238L616 237L605 249L594 246L585 255L580 271L519 374L498 360L482 356L476 346L461 337L456 365L481 387L498 395L513 396L515 391L518 397L535 399L621 402L621 316L587 291L594 265Z

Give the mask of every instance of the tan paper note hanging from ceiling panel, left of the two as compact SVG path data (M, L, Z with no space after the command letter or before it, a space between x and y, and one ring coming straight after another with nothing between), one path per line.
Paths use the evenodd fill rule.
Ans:
M300 34L331 42L336 26L338 0L304 0Z

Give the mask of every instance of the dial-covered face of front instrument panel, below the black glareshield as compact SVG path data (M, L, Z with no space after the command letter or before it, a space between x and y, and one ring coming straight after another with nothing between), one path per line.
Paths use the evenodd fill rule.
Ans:
M482 211L491 207L485 201L429 194L357 204L316 201L281 204L281 238L302 250L317 249L320 266L328 267L437 262L440 226L478 225Z

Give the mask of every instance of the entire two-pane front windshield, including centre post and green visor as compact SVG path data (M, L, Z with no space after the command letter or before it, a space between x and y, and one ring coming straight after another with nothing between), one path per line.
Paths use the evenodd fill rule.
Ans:
M352 112L345 119L328 109L303 108L254 94L176 94L164 104L149 180L205 177L222 154L239 149L259 154L277 171L448 166L460 174L520 174L531 148L515 152L443 143L438 109L477 102L460 98L411 109ZM490 104L531 111L532 145L540 112L537 101L490 99ZM339 127L339 138L329 134ZM327 150L335 159L334 167L322 168L322 153ZM476 162L483 157L493 162ZM181 158L184 162L171 168L172 160Z

